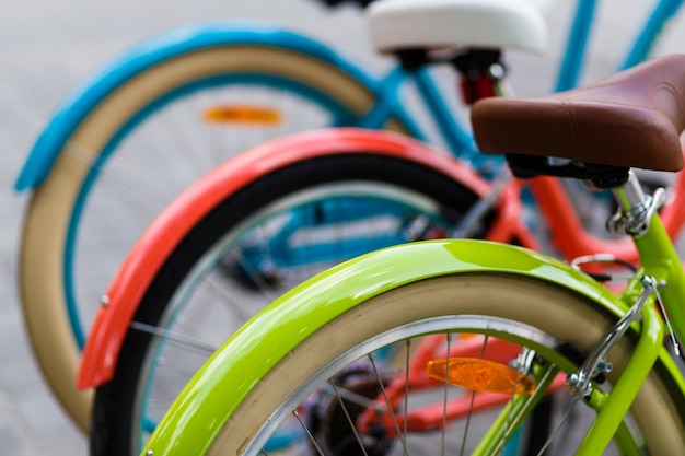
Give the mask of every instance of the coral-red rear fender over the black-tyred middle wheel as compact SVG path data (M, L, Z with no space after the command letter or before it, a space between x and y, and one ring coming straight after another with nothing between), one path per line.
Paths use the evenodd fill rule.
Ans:
M322 129L268 141L235 155L183 191L130 250L97 309L77 387L108 382L140 300L158 270L199 220L246 184L293 162L316 156L376 153L398 156L452 176L477 195L489 185L450 155L408 137L356 128Z

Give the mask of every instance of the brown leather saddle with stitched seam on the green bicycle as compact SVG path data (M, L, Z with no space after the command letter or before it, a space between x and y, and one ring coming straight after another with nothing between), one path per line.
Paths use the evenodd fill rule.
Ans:
M559 175L544 171L547 157L566 159L577 168L676 172L683 167L685 55L553 95L481 100L473 106L472 124L479 149L513 159L514 174L521 162L543 166L529 175ZM525 169L519 171L525 177Z

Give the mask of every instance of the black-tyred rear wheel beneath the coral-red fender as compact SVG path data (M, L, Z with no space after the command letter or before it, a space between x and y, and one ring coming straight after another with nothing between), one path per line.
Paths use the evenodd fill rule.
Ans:
M443 237L475 200L440 172L373 153L297 162L243 187L148 288L114 377L96 390L92 454L139 454L197 367L292 285L371 249Z

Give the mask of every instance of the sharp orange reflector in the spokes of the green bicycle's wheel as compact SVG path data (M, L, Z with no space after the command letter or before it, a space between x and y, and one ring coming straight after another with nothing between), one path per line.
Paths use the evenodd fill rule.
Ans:
M448 370L448 362L450 367ZM428 362L426 372L432 378L478 393L532 395L535 381L513 367L495 361L473 358L450 358Z

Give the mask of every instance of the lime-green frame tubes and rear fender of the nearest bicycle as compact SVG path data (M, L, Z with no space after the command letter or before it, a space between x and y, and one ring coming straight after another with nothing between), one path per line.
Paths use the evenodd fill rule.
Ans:
M666 311L673 313L674 327L681 328L682 308L678 312L675 307L680 303L672 299L684 291L685 281L677 256L658 218L637 244L646 255L638 274L653 274L658 280L667 280L670 293L662 293L662 297ZM665 265L659 259L661 255L665 255ZM431 241L375 252L305 282L245 325L188 383L159 424L147 448L164 455L206 451L207 443L213 439L216 424L225 422L246 390L258 382L270 364L306 338L313 327L383 291L430 277L475 271L515 274L555 283L594 301L616 319L626 314L640 291L634 281L616 296L555 259L519 247L481 241ZM641 327L632 325L629 328L629 331L639 334L640 341L614 386L614 395L597 397L593 401L600 412L584 449L603 447L605 441L619 429L631 397L637 394L655 360L659 359L669 371L677 393L685 394L685 379L662 347L662 321L658 311L647 305L642 317ZM266 334L260 330L265 325L270 328ZM294 328L298 328L297 335L293 335ZM251 349L246 349L248 346ZM254 363L255 359L266 365ZM236 385L234 378L239 377L241 382ZM212 423L211 429L204 423ZM491 439L495 436L491 435Z

